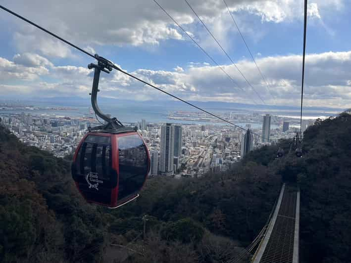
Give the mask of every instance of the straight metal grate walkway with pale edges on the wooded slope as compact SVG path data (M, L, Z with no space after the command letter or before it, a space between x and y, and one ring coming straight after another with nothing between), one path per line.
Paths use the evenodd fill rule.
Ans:
M300 191L283 184L267 232L252 263L299 262Z

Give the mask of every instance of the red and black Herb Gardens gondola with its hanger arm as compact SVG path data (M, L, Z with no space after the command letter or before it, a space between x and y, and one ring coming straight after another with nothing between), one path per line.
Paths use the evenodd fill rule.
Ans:
M125 127L116 118L104 115L97 105L100 71L109 73L106 64L99 61L88 67L95 68L92 106L106 124L90 128L79 143L72 177L89 203L117 208L139 196L150 171L150 154L136 128Z

